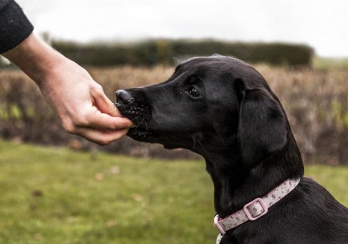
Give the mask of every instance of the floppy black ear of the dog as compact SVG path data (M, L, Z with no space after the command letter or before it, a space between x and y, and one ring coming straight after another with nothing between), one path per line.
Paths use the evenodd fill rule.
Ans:
M236 81L239 100L239 147L244 167L251 169L287 142L286 117L283 109L269 90L248 87Z

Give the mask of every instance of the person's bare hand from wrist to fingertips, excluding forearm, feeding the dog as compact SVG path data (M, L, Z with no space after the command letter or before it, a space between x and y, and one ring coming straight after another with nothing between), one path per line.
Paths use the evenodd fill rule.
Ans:
M121 117L102 86L69 59L57 63L39 86L63 128L72 134L105 145L127 134L132 125Z

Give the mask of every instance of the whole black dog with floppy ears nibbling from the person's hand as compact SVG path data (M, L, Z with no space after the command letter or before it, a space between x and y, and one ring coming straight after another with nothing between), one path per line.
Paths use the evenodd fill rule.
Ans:
M116 95L121 114L136 124L129 137L203 155L214 182L218 221L244 206L249 219L257 218L227 228L221 244L348 243L348 208L303 178L285 111L247 63L226 56L193 58L177 66L166 82ZM298 179L299 185L273 206L264 206L260 198L287 179ZM253 215L256 205L248 204L256 198L260 215Z

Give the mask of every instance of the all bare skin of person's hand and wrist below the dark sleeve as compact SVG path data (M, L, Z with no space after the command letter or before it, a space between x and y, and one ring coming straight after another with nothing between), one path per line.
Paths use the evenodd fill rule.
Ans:
M124 136L132 126L84 68L33 34L3 56L38 84L68 132L105 145Z

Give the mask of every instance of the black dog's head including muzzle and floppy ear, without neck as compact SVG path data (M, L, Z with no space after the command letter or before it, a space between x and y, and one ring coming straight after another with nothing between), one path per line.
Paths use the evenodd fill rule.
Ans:
M136 125L129 137L203 156L238 151L248 167L283 148L290 131L262 75L231 57L189 59L165 82L116 96L121 114Z

